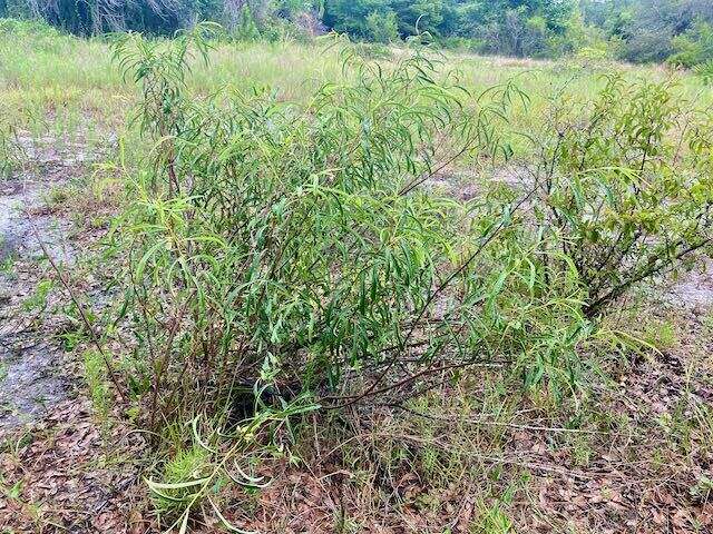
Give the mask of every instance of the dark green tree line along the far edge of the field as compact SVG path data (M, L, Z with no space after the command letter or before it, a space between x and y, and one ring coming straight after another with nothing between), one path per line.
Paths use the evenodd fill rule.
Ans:
M388 43L428 32L480 53L713 61L711 0L0 0L0 17L41 18L78 34L167 34L213 20L243 40L335 30Z

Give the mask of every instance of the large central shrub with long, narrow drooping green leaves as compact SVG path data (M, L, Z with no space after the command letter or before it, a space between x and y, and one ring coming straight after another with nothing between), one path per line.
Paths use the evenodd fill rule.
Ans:
M197 99L183 73L199 34L130 39L117 55L157 145L120 235L152 413L219 407L253 384L339 406L494 359L536 362L537 382L572 353L576 291L567 276L544 286L524 199L427 189L502 148L512 86L476 98L419 48L382 66L346 47L346 81L306 107Z

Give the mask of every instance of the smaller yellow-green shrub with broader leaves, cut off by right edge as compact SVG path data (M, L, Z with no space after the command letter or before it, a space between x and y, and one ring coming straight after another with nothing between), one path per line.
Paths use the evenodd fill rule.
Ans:
M536 215L577 269L596 316L681 267L712 237L711 116L671 82L612 76L584 113L555 110Z

